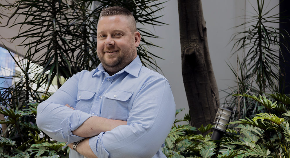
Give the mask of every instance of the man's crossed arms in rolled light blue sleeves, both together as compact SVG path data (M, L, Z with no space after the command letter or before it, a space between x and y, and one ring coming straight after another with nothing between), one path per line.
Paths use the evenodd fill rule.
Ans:
M84 139L77 151L86 157L152 157L160 149L175 120L175 104L168 82L147 81L134 99L127 124L93 116L75 107L78 81L72 77L37 108L37 126L52 139L71 143ZM121 125L121 126L119 126ZM106 133L104 133L106 132Z

